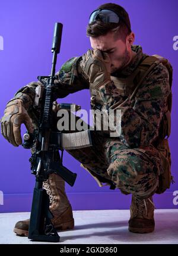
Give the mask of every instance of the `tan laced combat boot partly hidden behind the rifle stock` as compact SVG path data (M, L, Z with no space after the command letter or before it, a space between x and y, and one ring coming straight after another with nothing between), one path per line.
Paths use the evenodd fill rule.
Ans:
M49 179L43 182L50 199L50 211L53 214L52 223L56 230L74 229L74 218L71 204L65 193L65 182L57 174L50 174ZM15 224L14 232L19 236L28 236L30 219L21 220Z

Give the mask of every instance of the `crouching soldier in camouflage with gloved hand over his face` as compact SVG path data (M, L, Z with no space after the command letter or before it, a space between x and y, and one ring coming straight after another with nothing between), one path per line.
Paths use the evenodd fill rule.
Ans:
M56 73L56 98L90 89L93 110L120 110L121 133L112 138L104 131L94 132L93 146L67 151L100 186L107 183L111 189L132 193L129 230L149 233L155 226L152 195L163 173L160 152L154 143L170 94L169 71L161 62L148 70L149 61L144 63L148 55L140 45L133 45L135 35L129 15L120 5L103 4L93 11L87 35L93 49L62 65ZM143 70L147 70L144 77ZM29 114L38 85L40 82L32 82L21 88L5 109L2 135L14 146L22 143L21 123L33 131ZM55 227L72 229L74 218L64 181L52 174L44 188L50 195ZM27 235L28 224L29 220L18 221L14 232Z

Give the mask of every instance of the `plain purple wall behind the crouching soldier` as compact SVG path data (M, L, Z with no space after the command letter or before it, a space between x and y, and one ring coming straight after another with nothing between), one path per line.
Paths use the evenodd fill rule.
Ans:
M56 21L63 23L61 53L56 70L71 57L84 54L90 48L86 37L88 16L104 0L16 0L1 1L0 36L4 38L4 51L0 51L1 104L0 115L7 101L14 93L39 75L50 73L53 26ZM173 37L177 31L177 0L170 1L115 1L128 11L135 44L141 45L147 54L159 54L170 60L174 68L173 108L170 148L172 173L176 183L162 195L155 195L157 208L177 208L173 204L173 191L178 190L177 181L177 90L178 51L173 50ZM177 73L177 74L176 74ZM69 95L62 102L75 102L82 108L90 109L88 90ZM25 131L23 127L23 132ZM0 136L1 175L0 191L4 192L4 205L0 212L30 211L34 176L30 173L28 158L30 151L21 146L15 148ZM131 195L122 195L119 190L99 188L96 181L80 167L80 163L66 152L64 164L78 173L74 188L66 185L74 210L128 209Z

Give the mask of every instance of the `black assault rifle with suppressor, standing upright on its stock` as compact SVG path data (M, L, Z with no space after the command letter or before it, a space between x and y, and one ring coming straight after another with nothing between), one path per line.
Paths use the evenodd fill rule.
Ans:
M53 43L52 43L52 70L50 76L38 76L38 80L43 84L40 90L40 117L37 129L33 134L24 135L24 148L31 148L33 152L30 163L31 173L36 177L33 192L33 202L31 206L30 226L28 239L33 241L59 242L59 235L52 224L52 213L49 210L49 195L43 189L43 182L48 179L49 174L55 173L62 177L65 182L73 186L77 174L72 173L62 165L63 153L61 146L61 132L53 130L55 117L53 114L53 102L55 99L55 66L57 54L60 51L62 38L62 24L55 23ZM36 104L38 105L38 104ZM59 104L60 107L69 108L71 104ZM37 107L37 106L36 106Z

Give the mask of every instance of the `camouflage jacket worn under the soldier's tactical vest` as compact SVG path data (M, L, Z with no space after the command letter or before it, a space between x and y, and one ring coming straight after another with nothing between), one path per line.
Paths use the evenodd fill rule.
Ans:
M147 57L142 52L142 47L133 45L132 51L136 52L135 57L123 70L116 71L112 76L126 77L132 74L139 63ZM89 89L90 84L82 77L80 61L82 57L74 57L66 61L56 73L56 98L63 98L69 93L82 89ZM61 84L62 83L62 84ZM28 88L31 98L34 97L34 89L39 82L32 82L23 88ZM21 89L21 92L23 92ZM128 148L148 146L158 136L158 128L166 107L167 95L170 93L169 72L162 63L158 64L145 77L142 85L131 102L126 102L120 107L121 110L121 135L122 141ZM17 95L17 93L16 93ZM103 93L103 97L106 96ZM109 98L110 99L110 98ZM124 101L122 95L115 95L113 92L112 104L117 101Z

